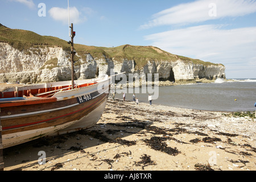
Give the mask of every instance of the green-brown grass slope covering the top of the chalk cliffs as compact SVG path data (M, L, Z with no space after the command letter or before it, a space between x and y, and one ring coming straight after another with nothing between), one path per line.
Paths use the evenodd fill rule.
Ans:
M0 24L0 42L9 43L10 46L26 51L31 47L62 47L65 51L70 51L71 46L67 41L53 37L41 36L32 31L11 29ZM173 55L153 46L130 46L123 45L113 48L85 46L81 44L74 45L77 55L86 60L86 54L90 53L94 58L113 58L115 61L123 61L123 59L134 60L137 68L142 68L147 61L176 61L177 59L185 62L192 61L194 64L218 65L204 62L189 57Z

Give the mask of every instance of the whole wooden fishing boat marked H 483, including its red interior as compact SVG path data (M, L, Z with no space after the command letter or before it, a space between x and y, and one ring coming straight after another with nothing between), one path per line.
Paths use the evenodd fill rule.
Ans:
M9 88L0 92L3 148L47 135L88 129L100 119L110 78Z

